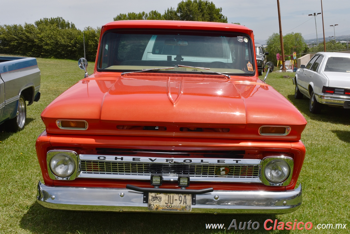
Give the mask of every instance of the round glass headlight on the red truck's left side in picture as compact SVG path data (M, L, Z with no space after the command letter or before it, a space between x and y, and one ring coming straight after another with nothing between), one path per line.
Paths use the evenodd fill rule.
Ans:
M59 177L69 177L75 170L75 163L69 155L58 153L51 158L50 168Z

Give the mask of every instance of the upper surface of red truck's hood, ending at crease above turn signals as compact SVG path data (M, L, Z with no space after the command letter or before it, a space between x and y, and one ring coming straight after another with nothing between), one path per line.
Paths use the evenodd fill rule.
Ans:
M84 79L57 97L42 112L42 117L128 122L306 124L300 112L265 83L189 77Z

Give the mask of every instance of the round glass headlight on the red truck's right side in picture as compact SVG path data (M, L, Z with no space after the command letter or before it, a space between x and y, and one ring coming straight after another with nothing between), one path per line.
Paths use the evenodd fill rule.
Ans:
M274 159L264 169L265 178L272 183L281 183L289 176L290 168L284 160Z

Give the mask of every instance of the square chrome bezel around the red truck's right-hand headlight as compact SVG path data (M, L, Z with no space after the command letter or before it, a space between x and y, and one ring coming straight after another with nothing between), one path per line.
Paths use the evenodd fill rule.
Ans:
M270 163L273 160L282 160L285 161L287 163L287 165L289 166L289 174L287 176L287 178L281 182L276 182L273 183L271 181L269 181L266 177L265 177L265 168L267 166L268 163ZM262 159L261 162L261 180L262 183L264 183L265 185L270 185L270 186L286 186L290 183L290 181L292 180L292 175L293 175L293 169L294 169L294 161L292 158L290 157L285 157L285 156L269 156L266 157L264 159Z

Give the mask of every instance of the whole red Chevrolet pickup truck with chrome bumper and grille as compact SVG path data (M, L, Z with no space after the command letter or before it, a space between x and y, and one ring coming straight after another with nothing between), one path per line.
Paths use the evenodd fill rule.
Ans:
M307 122L258 78L244 26L108 23L94 73L41 117L48 208L279 214L302 203Z

